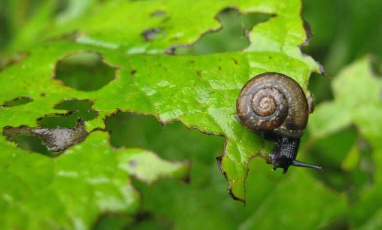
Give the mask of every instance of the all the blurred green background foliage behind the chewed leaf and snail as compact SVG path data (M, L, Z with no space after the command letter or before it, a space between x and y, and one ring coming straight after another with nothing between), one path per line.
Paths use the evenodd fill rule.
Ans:
M65 22L91 9L91 1L83 4L69 0L54 2L56 10L55 15L51 17L57 17L59 22ZM12 53L17 50L12 39L17 38L20 44L29 38L38 37L37 32L28 34L28 29L22 31L21 28L30 26L30 17L44 18L41 15L48 12L44 5L49 3L42 0L5 0L0 4L0 48L2 53ZM20 8L20 5L23 7ZM43 6L40 7L41 5ZM9 10L15 9L12 7L17 7L17 16L11 16ZM338 94L335 94L331 85L334 80L337 81L334 82L337 89L345 87L344 81L336 80L334 76L340 69L365 54L371 53L382 58L382 26L379 24L382 22L381 12L381 0L304 1L302 16L310 24L314 36L310 45L303 47L303 51L320 61L328 76L314 74L310 78L309 89L316 95L317 109L310 119L299 158L325 166L322 173L308 173L319 183L299 171L304 169L292 169L282 177L278 173L270 172L269 165L263 160L255 159L249 164L250 171L246 181L247 206L243 207L227 195L226 181L216 167L215 157L223 152L222 137L206 136L197 130L188 130L179 121L162 127L154 117L119 112L106 119L106 130L110 132L110 142L114 147L149 149L167 160L190 159L191 182L185 184L165 180L149 186L135 180L134 185L140 189L143 196L139 214L104 215L98 219L94 228L293 229L296 228L295 224L299 223L297 228L300 229L380 229L382 174L379 166L382 166L382 148L378 143L378 132L381 134L382 130L375 131L377 135L369 135L372 134L373 127L380 126L363 122L363 119L367 118L357 118L353 111L363 103L373 106L368 110L370 112L364 115L376 115L381 108L381 94L374 95L373 103L349 99L355 102L355 106L344 109L346 102L338 102ZM248 37L244 36L245 31L270 17L262 15L259 19L259 14L252 15L256 16L251 18L251 14L241 15L235 10L220 13L217 15L223 25L220 31L206 33L193 46L177 48L175 53L198 55L242 50L249 45ZM39 20L35 22L39 23ZM40 22L41 24L47 22ZM94 64L92 60L85 59ZM378 88L378 83L366 81L362 86L357 84L365 74L378 79L376 82L381 81L372 73L365 72L369 62L370 60L363 60L362 71L357 70L356 64L346 74L340 74L341 79L345 79L345 75L353 74L349 81L356 85L354 88L348 87L349 92L344 93L343 97L358 90L362 91L363 95L369 95L371 88L376 88L377 92L382 91L381 87ZM74 74L94 74L94 66L90 69L79 69L83 70L79 73L75 67L78 63L78 60L66 63L69 67L62 68L62 75L71 77L75 76ZM98 67L100 66L97 65ZM381 66L377 65L375 69L380 68ZM358 75L354 73L355 69ZM105 75L112 74L108 69L101 71L104 71L102 74ZM73 81L76 79L78 78L72 78ZM86 82L71 84L81 85L81 89L87 89L89 86L88 90L94 90L92 85ZM55 125L73 127L78 118L87 119L86 116L90 115L88 119L93 119L94 112L91 111L91 106L61 108L75 112L68 117L47 116L40 120L39 124L51 128ZM375 116L373 121L376 124L382 122L379 116ZM33 150L41 148L34 147L36 141L39 140L20 140L19 145L39 152ZM28 147L28 143L31 146ZM335 192L331 192L331 189ZM290 219L292 216L298 218Z

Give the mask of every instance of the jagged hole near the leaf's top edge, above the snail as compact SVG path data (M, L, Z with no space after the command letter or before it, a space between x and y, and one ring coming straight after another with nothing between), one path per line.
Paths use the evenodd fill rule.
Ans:
M191 46L172 47L176 55L210 54L217 52L239 51L249 46L248 31L258 23L273 17L271 14L240 14L237 9L227 8L217 14L221 27L203 34ZM171 48L170 48L171 49Z

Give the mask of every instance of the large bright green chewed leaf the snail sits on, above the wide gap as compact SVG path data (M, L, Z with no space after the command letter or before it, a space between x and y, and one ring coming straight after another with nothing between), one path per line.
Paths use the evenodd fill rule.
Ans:
M1 73L3 81L12 82L12 87L5 87L7 90L0 99L9 100L24 95L34 100L13 110L4 109L1 123L34 126L36 118L57 112L53 110L54 104L69 95L71 98L94 101L93 108L99 114L95 120L86 122L89 130L102 128L103 116L117 108L153 114L163 123L180 119L189 127L226 137L221 168L230 183L232 194L244 201L248 159L259 154L266 157L267 152L263 150L263 139L246 130L236 119L235 101L239 90L252 76L265 71L287 74L307 90L310 72L318 71L319 67L310 57L301 55L298 48L306 40L299 13L301 2L298 0L287 5L279 1L235 3L234 6L241 12L276 15L253 28L250 32L251 45L246 52L198 57L146 54L158 53L176 44L191 43L202 32L216 27L214 16L217 12L232 6L232 3L219 2L206 11L200 10L206 8L204 4L200 2L189 6L178 1L167 4L154 1L150 5L142 1L110 2L95 8L86 18L63 26L65 31L76 28L84 32L85 36L78 35L76 38L82 45L57 41L37 46L24 62ZM184 7L187 7L184 10L188 12L187 19L194 19L195 26L179 23L187 22L181 20L186 19L185 15L176 13L182 12ZM151 18L150 14L156 10L166 11L169 19L162 22L163 19ZM136 14L137 11L140 14ZM126 26L129 29L121 30L121 22L126 18L131 22L148 20L149 23L128 23ZM163 27L166 33L147 43L141 33L156 27ZM60 32L63 30L59 29ZM180 36L176 43L172 39L174 36ZM105 63L119 68L117 79L96 92L80 92L52 81L50 76L55 63L79 50L102 54ZM132 50L141 54L126 56L125 52L129 54ZM23 72L28 75L23 82L17 81L20 68L24 68ZM25 84L31 90L25 91ZM46 93L43 98L40 96L42 93ZM39 105L38 110L36 105ZM22 111L28 111L28 114L24 115Z

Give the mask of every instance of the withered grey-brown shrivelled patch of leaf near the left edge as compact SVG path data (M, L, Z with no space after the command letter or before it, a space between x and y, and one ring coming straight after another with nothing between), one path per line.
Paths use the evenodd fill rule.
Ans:
M31 128L29 126L22 125L20 127L6 126L2 133L7 140L16 143L25 142L26 144L18 144L19 147L35 151L37 153L46 153L44 155L54 156L45 150L40 150L41 146L36 145L36 137L42 140L43 144L49 151L60 152L67 147L74 145L86 138L88 133L84 127L84 121L78 120L74 129L67 129L58 127L56 129L47 128ZM33 139L34 138L34 139ZM29 139L29 140L28 140ZM34 146L26 146L32 143ZM25 147L26 146L26 147Z

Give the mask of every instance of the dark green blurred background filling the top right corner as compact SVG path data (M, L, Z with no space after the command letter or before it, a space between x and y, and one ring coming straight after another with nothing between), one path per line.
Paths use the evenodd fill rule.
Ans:
M328 76L310 78L317 102L333 98L330 79L341 68L368 53L382 57L381 11L380 0L304 0L302 17L313 37L303 51L323 64Z

